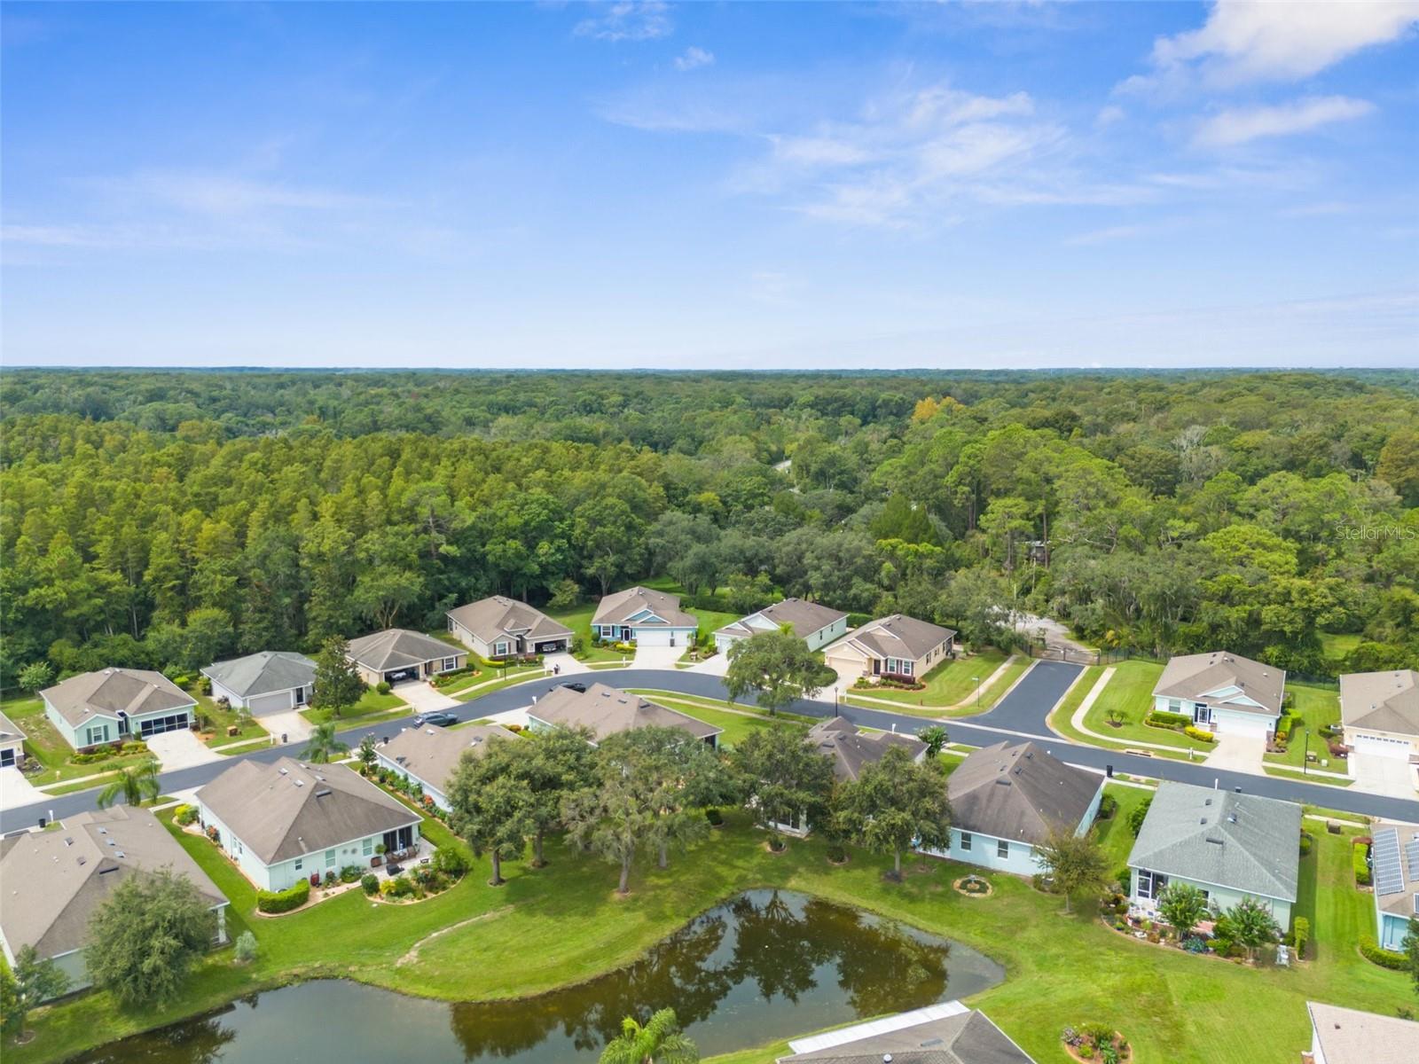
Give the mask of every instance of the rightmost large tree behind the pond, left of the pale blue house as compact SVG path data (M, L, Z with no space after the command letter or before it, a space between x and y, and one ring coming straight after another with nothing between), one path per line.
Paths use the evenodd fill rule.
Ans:
M902 851L918 840L939 843L951 826L946 776L938 762L918 763L894 743L839 789L834 819L857 846L891 854L891 878L901 880Z

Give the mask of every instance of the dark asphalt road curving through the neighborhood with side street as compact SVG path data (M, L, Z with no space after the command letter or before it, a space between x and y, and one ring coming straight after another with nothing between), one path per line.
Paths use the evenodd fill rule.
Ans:
M1115 772L1151 779L1171 779L1199 786L1240 787L1249 794L1264 797L1287 799L1290 802L1307 802L1324 809L1341 809L1351 813L1385 817L1389 820L1403 820L1419 823L1419 802L1385 797L1382 794L1368 794L1357 792L1354 787L1331 787L1323 783L1300 783L1279 776L1253 776L1244 772L1213 772L1206 765L1193 765L1166 758L1138 758L1135 755L1105 750L1097 746L1080 746L1067 739L1053 735L1044 726L1044 718L1054 704L1063 697L1081 667L1061 661L1039 661L1025 678L1016 684L1009 695L1000 699L989 712L972 718L955 718L942 721L951 732L954 742L969 743L971 746L990 746L1002 741L1015 741L1022 736L1036 736L1044 749L1060 760L1070 765L1080 765L1088 769L1103 770L1112 766ZM614 682L623 688L646 688L660 691L678 691L687 695L702 695L707 698L727 698L724 682L719 677L705 672L688 672L681 670L647 670L647 668L617 668L602 670L593 674L602 682ZM551 689L555 685L551 680L528 681L517 687L505 687L501 691L484 695L473 702L467 702L467 709L461 714L464 719L478 719L492 714L518 709L528 704L532 694ZM897 714L890 709L861 709L858 706L834 706L832 702L817 702L800 699L789 706L792 712L805 716L832 716L841 714L854 724L884 731L900 731L915 733L932 721ZM386 735L396 735L410 718L380 721L377 725L352 728L341 732L341 739L350 746L359 743L366 735L376 739ZM298 756L301 743L287 746L272 746L257 753L241 755L255 760L272 762L282 756ZM163 793L175 790L200 787L203 783L219 776L234 765L238 758L223 758L220 762L194 765L190 769L165 772L162 780ZM18 809L0 811L0 833L30 827L38 817L54 816L67 817L94 807L94 797L98 792L82 790L74 794L61 794L45 802Z

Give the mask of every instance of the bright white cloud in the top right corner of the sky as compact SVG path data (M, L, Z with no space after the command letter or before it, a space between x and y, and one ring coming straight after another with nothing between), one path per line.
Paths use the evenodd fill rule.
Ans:
M1419 0L1218 0L1199 30L1159 37L1152 61L1164 78L1200 72L1213 84L1293 81L1406 35ZM1131 78L1147 87L1148 78Z

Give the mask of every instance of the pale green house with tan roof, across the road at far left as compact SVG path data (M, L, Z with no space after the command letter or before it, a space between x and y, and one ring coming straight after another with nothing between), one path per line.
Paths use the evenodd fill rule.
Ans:
M40 692L44 715L75 750L192 726L197 699L162 672L105 668Z

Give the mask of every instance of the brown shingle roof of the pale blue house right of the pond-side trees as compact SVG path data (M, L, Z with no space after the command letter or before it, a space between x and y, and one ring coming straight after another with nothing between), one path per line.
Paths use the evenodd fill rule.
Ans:
M973 750L946 783L951 819L962 831L1043 843L1078 827L1103 776L1064 765L1033 742Z

